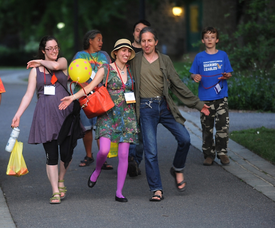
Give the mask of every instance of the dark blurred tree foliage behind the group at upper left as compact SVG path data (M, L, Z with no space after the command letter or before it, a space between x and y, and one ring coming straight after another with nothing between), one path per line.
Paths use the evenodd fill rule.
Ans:
M74 52L75 0L0 0L0 43L14 49L37 50L45 35L55 36L68 59ZM110 20L124 17L126 0L78 1L79 49L84 34L108 28ZM63 22L65 27L57 28ZM119 26L119 25L118 25ZM115 29L115 28L110 28ZM3 49L3 48L2 48ZM0 47L1 52L1 47Z

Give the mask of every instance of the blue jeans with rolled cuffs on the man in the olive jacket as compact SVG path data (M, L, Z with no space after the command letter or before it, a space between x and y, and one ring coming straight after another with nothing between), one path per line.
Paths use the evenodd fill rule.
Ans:
M178 123L167 108L166 99L140 99L140 124L143 135L145 171L151 192L163 190L157 154L157 126L161 123L176 138L178 148L174 156L173 167L181 171L190 147L190 136L185 127Z

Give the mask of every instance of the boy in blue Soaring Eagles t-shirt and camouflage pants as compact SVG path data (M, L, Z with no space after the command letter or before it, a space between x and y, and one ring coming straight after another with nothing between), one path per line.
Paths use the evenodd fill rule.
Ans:
M227 54L216 49L219 41L218 30L207 27L202 32L202 43L206 50L196 55L191 66L191 78L199 83L199 98L210 106L209 116L200 113L203 134L202 150L204 165L211 166L216 156L223 165L229 164L227 145L229 140L229 114L227 103L227 79L231 68ZM214 122L216 127L213 139Z

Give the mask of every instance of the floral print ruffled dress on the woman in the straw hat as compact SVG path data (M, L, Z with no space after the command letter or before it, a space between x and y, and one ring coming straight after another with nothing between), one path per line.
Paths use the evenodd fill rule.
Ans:
M139 130L134 108L135 103L126 103L122 84L123 82L117 76L115 69L113 69L112 66L108 64L103 64L102 67L104 67L105 70L102 84L106 83L108 68L110 67L107 90L111 95L115 106L108 110L105 114L97 117L95 138L98 139L99 137L103 136L110 139L113 143L138 143ZM124 84L124 86L126 93L132 92L132 80L128 70L127 82Z

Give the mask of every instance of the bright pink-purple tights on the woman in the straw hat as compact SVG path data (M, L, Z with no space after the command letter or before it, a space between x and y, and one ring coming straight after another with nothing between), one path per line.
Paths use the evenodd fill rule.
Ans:
M104 137L100 137L99 143L100 143L100 147L97 153L96 169L90 178L90 180L93 182L97 181L97 178L101 172L101 167L103 163L106 161L107 155L110 151L111 140ZM128 169L129 146L130 146L130 143L119 143L119 147L118 147L119 164L117 167L116 196L119 198L124 198L124 196L122 195L122 189L123 189L123 185L124 185L124 181L125 181L127 169Z

